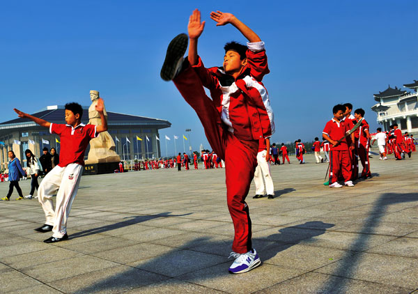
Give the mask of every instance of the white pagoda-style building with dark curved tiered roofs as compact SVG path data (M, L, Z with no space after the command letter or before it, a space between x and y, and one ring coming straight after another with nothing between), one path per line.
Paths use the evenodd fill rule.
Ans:
M413 92L403 91L400 88L389 87L378 94L374 99L378 102L371 110L378 114L378 123L382 129L389 130L389 126L397 123L402 132L418 132L418 81L412 84L404 84Z

